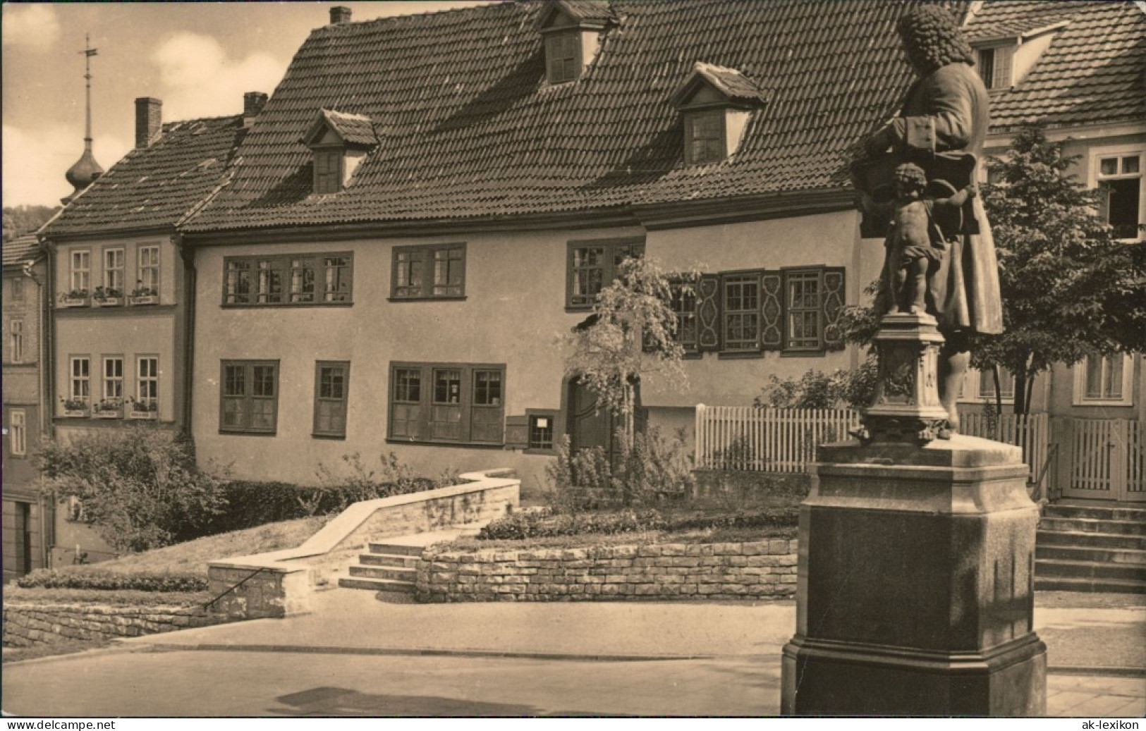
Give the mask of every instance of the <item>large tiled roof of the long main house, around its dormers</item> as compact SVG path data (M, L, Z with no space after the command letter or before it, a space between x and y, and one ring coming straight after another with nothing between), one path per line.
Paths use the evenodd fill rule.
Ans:
M959 3L956 3L957 6ZM582 78L549 86L541 3L316 29L189 230L496 218L845 188L911 82L882 0L615 0ZM961 6L959 6L961 7ZM767 84L737 154L686 167L670 95L698 61ZM320 109L375 120L345 190L311 195Z

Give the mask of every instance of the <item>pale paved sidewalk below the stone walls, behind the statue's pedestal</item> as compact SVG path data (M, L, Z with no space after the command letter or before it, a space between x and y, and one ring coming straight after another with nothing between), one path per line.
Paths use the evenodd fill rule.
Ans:
M152 635L125 645L566 662L751 662L758 681L775 683L778 692L779 654L794 626L793 602L418 605L385 604L368 591L338 589L317 595L308 615ZM1049 649L1049 715L1146 715L1146 608L1036 607L1035 630ZM713 675L714 682L719 677ZM691 687L690 693L702 690ZM777 695L774 713L778 708Z

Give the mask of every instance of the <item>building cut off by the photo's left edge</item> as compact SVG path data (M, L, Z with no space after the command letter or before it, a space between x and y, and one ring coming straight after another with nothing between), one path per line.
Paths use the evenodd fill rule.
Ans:
M47 266L36 235L3 244L3 582L47 565L52 501L33 457L46 432Z

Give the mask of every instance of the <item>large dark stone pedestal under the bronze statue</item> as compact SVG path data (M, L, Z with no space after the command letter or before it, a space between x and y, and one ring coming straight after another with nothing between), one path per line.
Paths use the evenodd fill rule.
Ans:
M973 437L821 447L800 509L785 715L1038 716L1038 511L1021 451Z

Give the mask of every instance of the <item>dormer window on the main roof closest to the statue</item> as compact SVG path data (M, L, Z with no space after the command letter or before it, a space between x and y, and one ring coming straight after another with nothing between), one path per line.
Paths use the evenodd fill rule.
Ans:
M684 164L719 163L736 152L752 112L766 101L744 73L697 63L670 97L684 123Z

